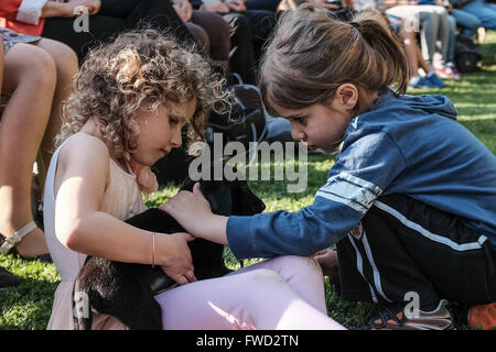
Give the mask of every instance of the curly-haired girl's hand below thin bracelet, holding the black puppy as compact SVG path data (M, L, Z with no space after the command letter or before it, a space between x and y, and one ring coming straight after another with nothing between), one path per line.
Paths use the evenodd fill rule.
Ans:
M159 256L162 270L180 285L196 282L193 258L187 242L195 238L185 232L157 235L155 255Z

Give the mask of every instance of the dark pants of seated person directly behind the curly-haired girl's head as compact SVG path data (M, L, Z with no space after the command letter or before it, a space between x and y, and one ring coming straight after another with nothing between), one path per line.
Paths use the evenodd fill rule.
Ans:
M115 34L142 25L168 30L180 41L195 43L166 0L103 0L100 11L89 16L89 32L75 32L74 21L74 18L46 19L42 36L71 46L79 62L99 42L109 41Z

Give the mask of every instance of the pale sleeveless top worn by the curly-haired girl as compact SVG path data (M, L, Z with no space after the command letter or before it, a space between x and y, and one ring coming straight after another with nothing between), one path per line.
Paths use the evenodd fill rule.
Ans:
M55 196L54 183L55 170L57 167L58 153L66 143L77 143L77 139L94 138L85 133L76 133L69 136L55 151L50 163L45 184L44 196L44 226L46 243L50 254L61 275L61 283L55 290L55 298L52 307L47 329L52 330L72 330L73 320L73 285L83 264L86 254L69 250L62 244L55 235ZM100 211L105 211L117 219L125 220L145 210L140 189L136 183L136 176L130 172L126 173L116 162L110 158L110 182L105 190L104 201ZM101 233L105 235L105 233ZM93 329L126 329L118 319L94 314Z

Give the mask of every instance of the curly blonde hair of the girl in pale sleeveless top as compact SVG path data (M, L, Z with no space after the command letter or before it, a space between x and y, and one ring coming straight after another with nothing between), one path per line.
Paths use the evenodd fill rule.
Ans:
M151 29L119 34L88 56L74 79L63 110L58 146L90 118L98 120L107 146L116 154L132 152L139 133L138 110L196 98L188 138L203 136L209 111L226 99L225 79L194 48Z

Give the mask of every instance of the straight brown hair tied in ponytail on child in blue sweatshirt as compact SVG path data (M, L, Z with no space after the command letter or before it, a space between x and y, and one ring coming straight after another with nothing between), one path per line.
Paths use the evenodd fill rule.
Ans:
M304 6L281 16L261 64L260 88L269 108L301 109L325 103L345 82L363 97L391 86L405 94L408 76L402 46L380 13L362 12L347 23ZM362 105L359 99L356 111Z

